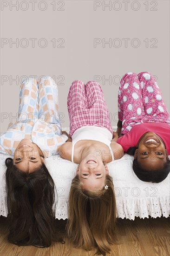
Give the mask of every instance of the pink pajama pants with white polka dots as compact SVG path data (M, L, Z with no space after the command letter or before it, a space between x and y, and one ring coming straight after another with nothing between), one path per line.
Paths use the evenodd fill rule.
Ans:
M139 123L170 124L162 93L152 74L127 73L123 76L118 91L118 119L122 121L121 133L124 135Z

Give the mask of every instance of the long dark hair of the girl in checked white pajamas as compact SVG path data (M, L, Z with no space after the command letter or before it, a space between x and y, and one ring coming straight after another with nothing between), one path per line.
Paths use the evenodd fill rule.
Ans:
M43 162L32 173L20 171L13 165L12 158L7 158L5 164L8 241L16 245L49 247L54 236L52 176Z

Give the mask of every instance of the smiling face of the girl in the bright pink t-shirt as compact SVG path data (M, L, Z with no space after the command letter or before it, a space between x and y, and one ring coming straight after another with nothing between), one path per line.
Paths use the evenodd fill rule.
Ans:
M135 151L134 159L144 169L159 170L168 159L163 140L155 133L144 134Z

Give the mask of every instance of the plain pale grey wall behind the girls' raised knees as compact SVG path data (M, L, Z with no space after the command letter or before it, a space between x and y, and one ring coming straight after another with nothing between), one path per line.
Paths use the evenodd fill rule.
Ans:
M170 1L0 1L0 131L16 121L22 78L52 76L62 127L74 80L97 80L111 124L126 72L149 71L170 111ZM16 42L16 43L15 43ZM13 118L12 118L13 117Z

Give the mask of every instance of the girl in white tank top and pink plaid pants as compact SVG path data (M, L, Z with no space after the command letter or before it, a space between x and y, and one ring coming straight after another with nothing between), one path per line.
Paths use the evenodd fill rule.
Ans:
M74 81L67 107L70 142L61 146L60 155L78 164L69 194L68 236L76 247L97 247L97 253L105 255L115 238L116 221L114 187L106 163L121 158L123 148L116 142L118 135L111 128L97 82Z

